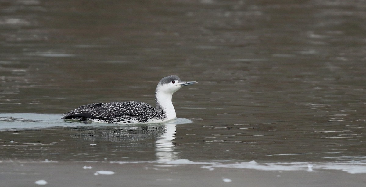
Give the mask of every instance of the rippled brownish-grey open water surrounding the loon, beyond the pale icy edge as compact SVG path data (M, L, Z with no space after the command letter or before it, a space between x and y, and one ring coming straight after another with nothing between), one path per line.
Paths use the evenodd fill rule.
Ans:
M365 15L352 0L1 1L0 159L365 163ZM60 119L154 104L168 75L198 81L173 122Z

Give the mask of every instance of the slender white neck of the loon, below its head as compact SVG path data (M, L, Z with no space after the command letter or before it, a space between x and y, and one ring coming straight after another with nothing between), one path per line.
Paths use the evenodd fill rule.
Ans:
M170 120L176 118L175 109L172 103L172 93L164 93L163 91L156 91L156 107L161 107L161 109L167 114L165 120Z

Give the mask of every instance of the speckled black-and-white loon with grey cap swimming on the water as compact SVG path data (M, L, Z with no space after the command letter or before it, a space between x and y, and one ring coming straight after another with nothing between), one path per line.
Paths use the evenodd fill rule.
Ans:
M171 75L161 79L156 87L156 107L136 101L86 104L66 112L62 119L100 123L159 123L176 118L172 104L173 93L183 86L197 83L184 82Z

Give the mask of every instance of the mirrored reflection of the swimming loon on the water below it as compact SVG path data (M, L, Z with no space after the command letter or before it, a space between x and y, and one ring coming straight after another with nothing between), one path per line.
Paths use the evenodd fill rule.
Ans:
M74 141L88 158L108 158L109 160L157 160L172 161L179 157L176 144L176 125L191 123L188 119L177 118L163 124L74 127L77 131ZM91 126L93 125L93 126ZM91 153L90 144L93 146ZM75 145L75 144L74 144Z

